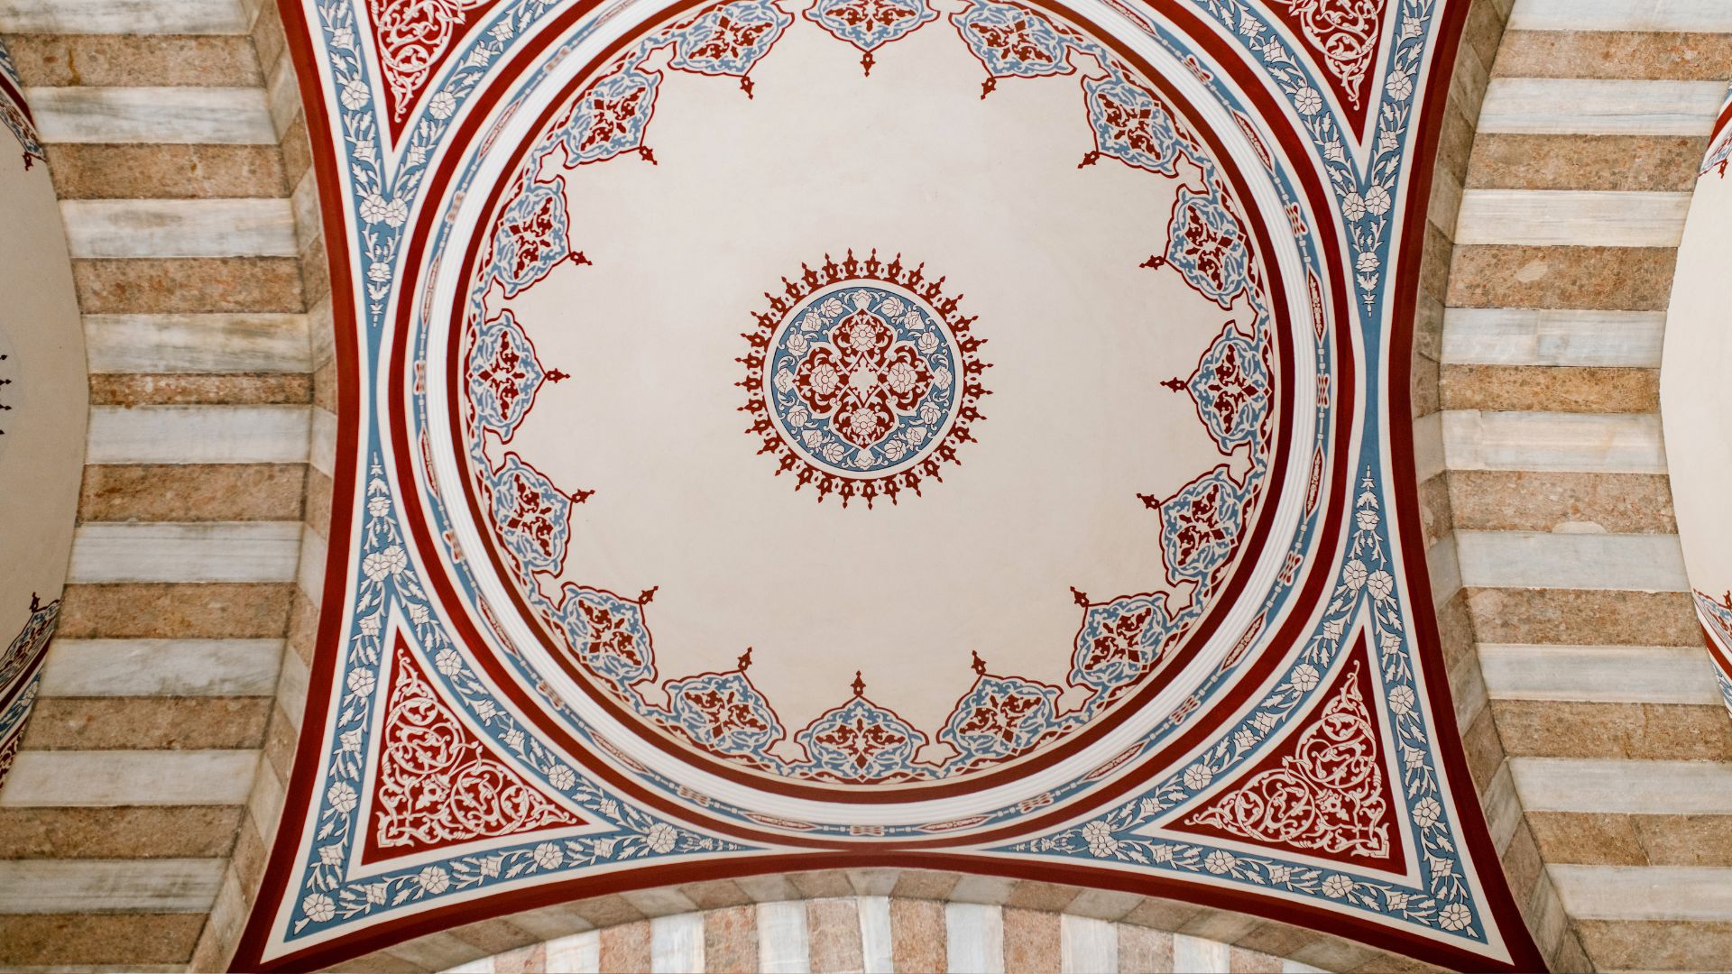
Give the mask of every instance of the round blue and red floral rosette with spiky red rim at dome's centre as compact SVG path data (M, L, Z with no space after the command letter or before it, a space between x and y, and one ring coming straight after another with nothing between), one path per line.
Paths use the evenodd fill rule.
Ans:
M973 319L942 284L901 256L850 251L766 295L741 385L746 432L762 440L759 452L778 456L776 473L816 485L819 499L837 492L869 506L904 487L918 494L923 478L942 480L942 463L960 463L956 449L982 418L987 366L975 357L984 340L970 334Z

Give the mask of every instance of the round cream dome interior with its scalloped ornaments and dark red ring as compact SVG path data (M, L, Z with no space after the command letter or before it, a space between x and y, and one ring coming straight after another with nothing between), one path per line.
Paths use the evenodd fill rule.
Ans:
M1183 721L1320 475L1292 217L1202 75L856 7L611 23L454 199L428 360L478 617L634 773L776 821Z

